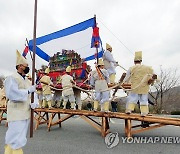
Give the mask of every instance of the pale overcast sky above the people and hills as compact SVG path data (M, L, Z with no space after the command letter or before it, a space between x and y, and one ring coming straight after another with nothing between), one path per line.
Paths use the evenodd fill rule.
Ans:
M34 0L0 0L0 75L15 71L16 49L22 52L25 38L32 39L33 9ZM134 52L141 50L143 63L156 72L161 65L180 68L180 0L38 0L37 37L94 14L104 47L113 47L123 67L133 65ZM47 64L37 61L37 68Z

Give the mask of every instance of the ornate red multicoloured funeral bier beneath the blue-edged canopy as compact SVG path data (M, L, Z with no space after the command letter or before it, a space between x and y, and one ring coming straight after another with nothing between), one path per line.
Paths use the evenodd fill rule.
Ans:
M58 85L60 77L66 72L68 66L71 67L70 74L77 84L82 84L90 71L90 66L74 50L63 49L62 52L57 52L53 57L50 57L49 66L49 76L56 85Z

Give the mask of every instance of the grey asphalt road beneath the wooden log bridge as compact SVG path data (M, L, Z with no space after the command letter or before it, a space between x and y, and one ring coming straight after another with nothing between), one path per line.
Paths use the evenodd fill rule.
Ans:
M41 125L23 148L24 154L179 154L180 143L123 143L124 121L113 119L111 132L118 132L119 144L107 148L100 133L80 118L71 118L62 123L62 128L53 126L47 132ZM7 128L0 124L0 154L4 152L4 136ZM29 134L28 134L29 136ZM134 135L135 137L179 137L180 127L165 126Z

